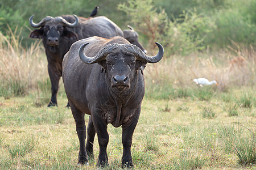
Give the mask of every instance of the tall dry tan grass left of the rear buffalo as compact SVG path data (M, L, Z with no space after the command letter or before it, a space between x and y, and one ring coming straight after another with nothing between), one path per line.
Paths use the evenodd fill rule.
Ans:
M24 48L20 43L21 32L17 29L12 32L10 29L8 37L0 32L0 82L1 87L15 82L27 92L36 87L38 80L46 78L48 73L40 41Z

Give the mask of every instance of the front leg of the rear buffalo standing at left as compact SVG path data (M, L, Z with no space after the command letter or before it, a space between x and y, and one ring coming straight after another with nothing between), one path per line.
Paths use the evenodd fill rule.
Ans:
M57 106L57 92L59 88L59 80L61 74L56 73L56 70L53 68L52 65L48 65L48 73L49 73L49 78L51 80L51 91L52 91L52 96L51 96L51 101L48 104L48 107L51 106Z

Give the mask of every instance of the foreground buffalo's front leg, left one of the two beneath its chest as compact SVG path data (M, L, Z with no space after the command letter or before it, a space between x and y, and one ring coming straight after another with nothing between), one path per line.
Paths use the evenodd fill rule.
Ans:
M108 125L97 114L92 114L92 121L98 136L98 145L100 146L97 167L105 167L105 165L108 165L108 155L106 152L109 143Z

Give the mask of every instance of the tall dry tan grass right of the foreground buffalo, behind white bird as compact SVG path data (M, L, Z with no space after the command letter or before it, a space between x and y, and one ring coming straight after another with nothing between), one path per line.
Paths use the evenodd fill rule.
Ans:
M236 63L234 58L237 59ZM188 56L164 56L162 61L147 65L148 83L170 83L175 87L196 87L194 78L216 80L218 90L225 91L233 86L254 86L256 50L233 42L233 48L217 52L193 53ZM242 63L238 63L242 62Z

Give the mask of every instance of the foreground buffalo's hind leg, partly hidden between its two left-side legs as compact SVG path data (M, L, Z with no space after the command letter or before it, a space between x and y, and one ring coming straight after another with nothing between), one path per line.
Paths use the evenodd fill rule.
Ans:
M89 122L87 126L87 142L85 147L89 159L94 159L93 142L94 142L95 134L96 134L96 131L93 126L92 116L89 116Z

